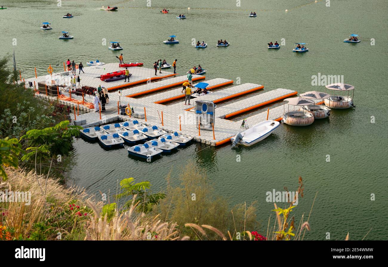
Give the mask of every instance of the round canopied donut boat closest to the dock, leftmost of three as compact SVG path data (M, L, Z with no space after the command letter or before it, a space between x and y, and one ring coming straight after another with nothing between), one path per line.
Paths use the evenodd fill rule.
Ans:
M286 123L288 125L292 126L307 126L310 125L314 122L314 114L311 113L310 111L304 111L304 110L289 110L289 106L309 106L309 105L314 105L315 102L303 98L303 97L291 97L291 98L286 98L284 101L288 101L288 111L285 111L285 106L284 108L284 114L282 116L282 122Z

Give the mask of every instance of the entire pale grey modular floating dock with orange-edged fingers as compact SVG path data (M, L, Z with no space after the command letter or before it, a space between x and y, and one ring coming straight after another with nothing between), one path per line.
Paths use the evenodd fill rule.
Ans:
M105 69L102 68L104 66ZM107 69L108 66L109 69ZM104 82L100 81L99 78L94 77L108 72L117 71L118 69L119 68L116 63L105 64L99 68L85 67L85 74L81 73L80 75L81 85L98 87L99 84L102 85ZM236 135L236 133L245 130L245 128L240 128L241 121L231 121L227 120L227 118L236 116L236 114L242 114L246 111L250 111L258 107L267 107L273 102L281 101L286 97L291 97L292 95L297 94L297 92L294 90L279 88L257 94L253 97L249 97L249 93L262 90L264 86L256 83L244 83L228 88L222 88L223 86L231 85L233 81L224 78L215 78L204 82L209 83L210 88L218 89L207 95L192 98L191 105L184 105L184 99L182 99L181 102L175 104L163 105L160 103L167 103L171 101L171 99L175 100L182 97L182 88L176 87L187 81L187 76L177 75L176 77L171 78L171 76L175 76L175 74L171 75L171 73L162 71L164 76L157 77L158 79L163 80L153 82L152 77L156 77L154 76L154 69L147 69L144 67L130 67L128 69L130 69L130 73L133 73L132 76L135 76L133 77L134 79L130 79L130 83L123 83L120 81L117 81L117 83L114 84L113 82L109 83L110 85L113 85L109 87L111 88L109 92L109 104L106 105L107 111L102 112L101 115L99 112L94 112L94 109L90 109L90 96L84 96L84 100L89 102L88 105L85 106L82 105L83 99L81 95L75 95L72 93L70 99L68 92L61 91L61 94L64 95L63 97L59 98L61 103L71 106L72 110L78 110L79 108L82 111L81 114L76 114L75 118L73 114L74 112L71 114L71 118L76 125L92 127L104 125L117 120L136 119L139 121L139 123L144 123L145 125L156 125L163 130L166 130L167 132L178 132L183 135L191 136L197 142L202 142L211 146L219 146L229 142L230 137ZM149 77L151 77L151 80ZM39 81L42 83L42 81L45 81L45 78L46 76L38 76L38 78L29 78L26 79L26 81ZM193 75L192 77L193 81L203 79L205 79L205 76ZM61 81L62 80L60 80L60 82ZM140 82L146 82L146 84L137 86L135 86L136 84L133 84ZM120 97L118 95L118 91L114 91L117 87L120 89L123 88L121 90ZM158 92L159 90L164 91L157 94L154 93ZM150 93L153 94L149 95ZM50 100L57 99L56 96L49 96L42 93L37 95ZM225 106L221 105L215 109L216 118L214 132L212 130L204 129L200 129L199 132L196 127L195 113L192 112L194 107L193 104L196 100L213 101L215 103L229 100L230 102L233 101L235 97L239 97L241 95L246 95L247 97L245 99L226 104ZM131 109L134 109L133 112L135 114L132 114L131 117L126 114L121 114L122 109L118 108L119 99L121 106L129 105ZM271 119L279 119L279 117L281 117L283 114L283 106L270 109L269 114ZM249 125L254 125L265 120L266 116L267 111L249 116Z

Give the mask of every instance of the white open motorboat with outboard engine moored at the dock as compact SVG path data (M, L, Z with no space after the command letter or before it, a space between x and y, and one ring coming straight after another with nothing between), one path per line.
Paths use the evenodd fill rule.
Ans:
M262 121L244 132L237 133L230 138L232 146L241 144L243 146L252 146L267 138L280 125L279 121Z

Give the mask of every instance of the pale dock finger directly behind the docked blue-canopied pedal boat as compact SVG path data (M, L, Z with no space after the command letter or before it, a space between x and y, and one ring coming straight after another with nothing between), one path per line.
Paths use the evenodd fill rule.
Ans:
M223 78L215 78L215 79L206 81L206 83L209 84L209 86L207 87L208 89L214 89L214 88L222 87L224 85L231 84L233 83L233 81L228 79L223 79ZM194 83L194 85L196 85L196 83ZM179 87L177 89L168 90L166 92L162 92L156 95L150 95L148 97L144 97L142 98L142 100L145 102L154 102L157 104L162 104L162 103L173 101L175 99L179 99L183 97L185 97L185 95L184 93L182 93L182 87Z

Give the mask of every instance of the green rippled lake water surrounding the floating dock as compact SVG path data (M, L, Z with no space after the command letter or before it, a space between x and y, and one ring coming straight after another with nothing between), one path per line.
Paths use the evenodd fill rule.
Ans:
M38 75L44 75L49 64L61 71L68 58L115 62L116 54L102 45L105 38L120 41L124 58L142 61L145 67L159 58L178 59L178 73L201 64L207 70L206 80L220 77L263 84L262 92L276 88L324 91L323 86L311 85L312 75L343 75L345 83L355 86L355 109L333 109L329 119L308 127L281 125L249 148L194 143L147 163L129 158L126 149L106 151L98 143L76 139L76 166L69 173L70 182L92 185L88 188L91 194L98 195L99 190L114 194L118 179L135 177L151 181L154 191L163 191L167 173L172 171L172 182L177 184L179 167L191 161L210 179L215 195L229 198L231 204L257 201L262 225L257 230L266 234L274 207L265 201L266 192L284 187L294 191L301 176L305 191L294 209L297 222L303 213L308 216L318 192L311 232L305 239L324 240L327 232L331 239L344 239L348 232L350 239L362 239L370 229L365 239L387 239L388 2L332 0L330 7L326 1L313 2L242 0L241 7L236 7L234 0L152 0L147 7L146 0L86 0L62 1L62 7L57 7L56 1L6 0L2 5L8 9L0 10L0 55L10 55L14 49L23 77L33 76L34 67ZM97 10L107 4L117 6L118 11ZM161 14L163 7L170 13ZM249 18L250 11L258 16ZM67 12L74 18L62 19ZM175 18L182 13L187 19ZM40 29L45 21L52 23L52 30ZM74 40L59 40L62 30L68 30ZM351 33L359 34L361 43L343 43ZM162 43L171 34L177 35L178 45ZM192 38L205 41L208 48L194 49ZM285 45L281 49L267 49L268 42L282 38ZM219 39L227 39L230 46L215 47ZM295 42L308 43L310 51L293 53Z

